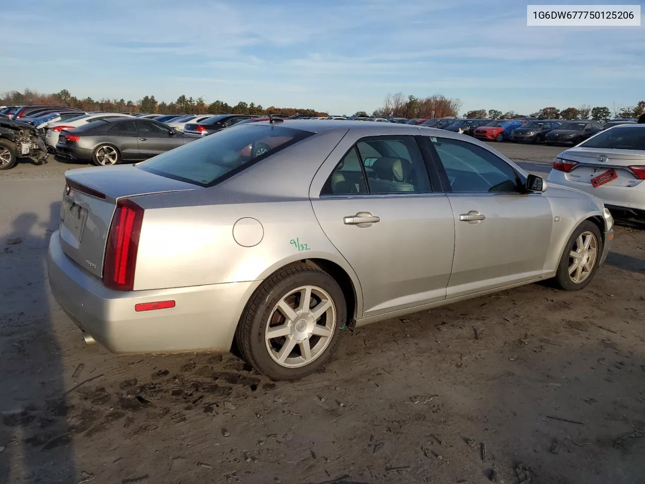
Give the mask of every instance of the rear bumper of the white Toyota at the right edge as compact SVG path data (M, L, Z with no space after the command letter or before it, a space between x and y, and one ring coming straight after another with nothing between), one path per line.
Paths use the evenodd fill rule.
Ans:
M633 187L621 187L620 185L612 185L610 182L593 188L591 183L571 180L566 173L559 170L551 170L546 181L597 196L606 206L645 210L645 183L639 183Z

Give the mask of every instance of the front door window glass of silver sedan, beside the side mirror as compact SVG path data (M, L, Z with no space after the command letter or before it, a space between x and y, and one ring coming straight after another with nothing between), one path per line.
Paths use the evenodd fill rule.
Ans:
M458 139L431 138L454 193L518 192L517 173L481 146Z

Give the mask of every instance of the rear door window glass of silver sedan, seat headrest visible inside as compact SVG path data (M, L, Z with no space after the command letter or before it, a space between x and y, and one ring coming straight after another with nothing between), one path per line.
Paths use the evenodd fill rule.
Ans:
M431 191L428 171L413 136L370 137L345 154L321 195Z

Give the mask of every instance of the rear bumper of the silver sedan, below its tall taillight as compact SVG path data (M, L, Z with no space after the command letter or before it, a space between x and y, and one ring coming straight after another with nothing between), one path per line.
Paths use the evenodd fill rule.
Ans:
M261 281L119 291L67 257L52 234L47 256L55 299L84 334L115 353L230 351L246 300ZM175 301L174 308L136 312L135 304Z

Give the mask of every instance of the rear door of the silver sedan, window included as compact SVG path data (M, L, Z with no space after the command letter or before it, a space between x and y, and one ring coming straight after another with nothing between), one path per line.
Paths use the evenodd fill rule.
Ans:
M333 150L310 195L324 233L359 277L362 317L445 299L454 221L417 139L353 141Z

